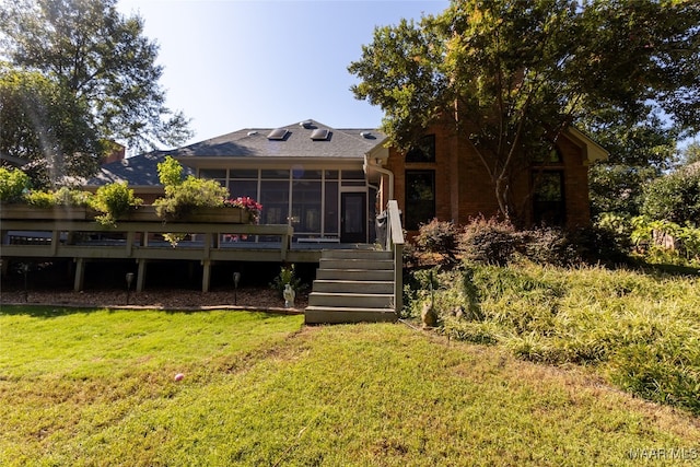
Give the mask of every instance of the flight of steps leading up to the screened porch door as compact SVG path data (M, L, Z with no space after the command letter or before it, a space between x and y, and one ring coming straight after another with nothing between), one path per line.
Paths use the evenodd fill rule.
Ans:
M306 324L394 322L392 252L328 249L322 253Z

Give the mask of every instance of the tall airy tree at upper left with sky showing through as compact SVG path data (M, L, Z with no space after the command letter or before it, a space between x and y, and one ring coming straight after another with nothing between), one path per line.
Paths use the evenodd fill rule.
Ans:
M191 137L188 120L165 106L159 47L139 16L116 0L0 0L5 54L57 80L86 103L98 135L144 150Z

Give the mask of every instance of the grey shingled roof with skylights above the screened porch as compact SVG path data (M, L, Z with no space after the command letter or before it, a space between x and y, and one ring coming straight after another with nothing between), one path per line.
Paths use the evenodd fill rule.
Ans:
M281 139L270 139L273 130L281 131ZM312 139L315 130L316 138ZM313 157L357 159L382 144L386 136L373 128L337 129L315 120L302 120L279 128L246 128L170 151L153 151L105 164L88 185L106 185L127 180L135 186L158 186L158 163L166 155L183 161L189 157Z

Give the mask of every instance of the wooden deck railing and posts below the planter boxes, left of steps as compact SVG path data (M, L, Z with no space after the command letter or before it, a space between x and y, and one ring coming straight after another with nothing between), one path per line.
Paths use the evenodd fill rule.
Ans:
M92 259L135 259L138 262L137 291L143 290L145 265L149 260L188 259L202 265L202 291L209 290L211 262L217 260L249 260L260 252L245 252L228 247L222 237L273 236L281 240L275 260L285 261L293 229L287 224L235 224L162 221L124 221L104 229L86 220L20 220L1 219L2 258L71 258L75 262L74 290L83 287L84 264ZM187 232L194 242L183 242L173 248L167 242L154 241L152 234ZM91 237L102 236L102 240ZM105 238L106 237L106 238ZM279 255L279 256L277 256ZM3 264L4 265L4 264Z

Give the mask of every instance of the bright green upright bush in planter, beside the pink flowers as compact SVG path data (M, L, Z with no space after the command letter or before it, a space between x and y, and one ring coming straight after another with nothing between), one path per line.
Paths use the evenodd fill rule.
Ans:
M194 175L182 178L183 167L171 156L158 164L159 178L165 187L165 197L153 202L156 213L163 219L182 219L197 208L224 206L229 195L226 188L217 180L197 178Z

